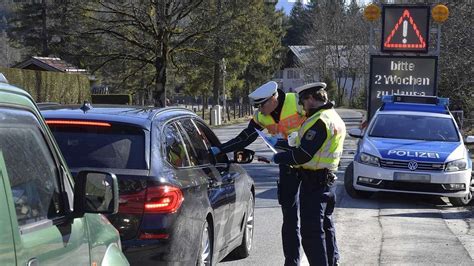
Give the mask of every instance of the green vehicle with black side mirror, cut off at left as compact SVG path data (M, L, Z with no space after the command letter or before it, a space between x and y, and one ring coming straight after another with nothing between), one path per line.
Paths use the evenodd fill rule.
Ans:
M115 175L74 181L31 96L0 74L0 265L128 265Z

